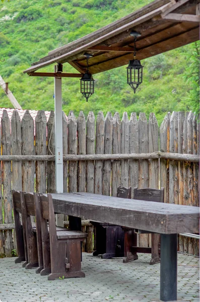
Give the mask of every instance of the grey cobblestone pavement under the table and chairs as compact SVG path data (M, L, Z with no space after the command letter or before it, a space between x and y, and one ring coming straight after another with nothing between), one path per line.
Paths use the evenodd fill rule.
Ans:
M35 269L25 270L15 258L0 259L1 302L157 302L160 264L149 265L150 255L122 263L122 258L101 259L83 254L85 278L48 281ZM178 300L199 301L199 259L178 255Z

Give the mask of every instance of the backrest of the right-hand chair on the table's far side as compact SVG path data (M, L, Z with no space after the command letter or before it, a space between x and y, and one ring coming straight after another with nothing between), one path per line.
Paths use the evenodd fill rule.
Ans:
M164 202L164 188L161 188L160 190L152 188L134 188L134 199Z

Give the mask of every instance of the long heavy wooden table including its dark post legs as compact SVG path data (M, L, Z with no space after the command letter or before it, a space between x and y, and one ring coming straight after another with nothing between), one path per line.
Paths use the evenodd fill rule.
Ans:
M81 218L161 234L160 299L177 299L177 234L199 232L199 208L116 198L91 193L52 194L54 211L70 215L70 228Z

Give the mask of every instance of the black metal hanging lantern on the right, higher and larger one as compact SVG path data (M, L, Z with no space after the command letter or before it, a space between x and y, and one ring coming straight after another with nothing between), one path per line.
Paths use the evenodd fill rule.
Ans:
M131 36L135 37L134 39L134 59L129 61L127 69L127 84L134 90L136 93L136 89L143 82L143 66L141 62L136 59L136 40L137 37L140 37L141 34L137 32L131 32Z

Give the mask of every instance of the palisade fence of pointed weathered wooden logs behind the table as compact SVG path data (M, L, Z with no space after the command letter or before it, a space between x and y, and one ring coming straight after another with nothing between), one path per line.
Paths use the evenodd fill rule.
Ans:
M165 188L165 202L198 205L199 124L192 112L168 113L160 129L154 113L124 112L120 120L99 112L75 117L63 113L64 192L91 192L116 196L118 186ZM54 112L35 119L27 110L22 118L5 110L0 142L0 257L12 256L11 190L55 192ZM160 151L160 152L159 152ZM186 155L184 155L186 154ZM87 217L85 217L87 218ZM5 225L5 226L4 226ZM87 225L87 223L86 223ZM84 226L91 233L90 225ZM13 240L14 238L14 240ZM91 236L86 250L92 251ZM150 235L140 235L140 246L150 246ZM198 255L195 239L179 237L179 251Z

